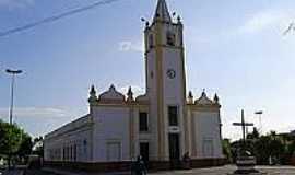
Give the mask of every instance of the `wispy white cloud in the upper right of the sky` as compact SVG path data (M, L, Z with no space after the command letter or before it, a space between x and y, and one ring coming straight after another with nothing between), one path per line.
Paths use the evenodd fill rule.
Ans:
M251 15L245 24L239 27L239 33L260 33L268 28L287 28L292 22L292 11L288 10L264 10Z

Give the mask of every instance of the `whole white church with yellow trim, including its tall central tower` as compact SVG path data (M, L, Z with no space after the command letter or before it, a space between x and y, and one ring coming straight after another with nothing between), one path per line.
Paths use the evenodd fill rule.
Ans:
M222 164L221 104L217 95L187 92L182 30L158 0L144 31L146 93L92 86L90 113L46 135L46 164L119 171L142 155L151 168L169 168L185 153L193 167Z

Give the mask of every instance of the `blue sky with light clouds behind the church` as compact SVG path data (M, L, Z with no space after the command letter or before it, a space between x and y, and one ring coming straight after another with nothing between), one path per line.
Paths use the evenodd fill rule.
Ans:
M0 0L0 31L96 2L95 0ZM142 16L156 0L121 0L50 24L0 38L0 118L8 119L10 78L5 68L25 71L17 79L15 121L44 135L87 113L91 84L99 92L115 83L144 90ZM224 137L245 108L262 109L263 131L295 129L294 0L167 0L185 24L188 88L221 96Z

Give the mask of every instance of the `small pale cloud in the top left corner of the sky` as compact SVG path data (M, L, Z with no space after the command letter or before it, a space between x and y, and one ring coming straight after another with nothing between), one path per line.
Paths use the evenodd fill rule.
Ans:
M0 8L9 10L23 9L34 4L34 0L0 0Z

